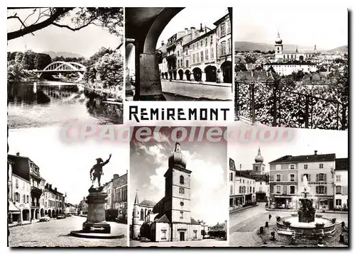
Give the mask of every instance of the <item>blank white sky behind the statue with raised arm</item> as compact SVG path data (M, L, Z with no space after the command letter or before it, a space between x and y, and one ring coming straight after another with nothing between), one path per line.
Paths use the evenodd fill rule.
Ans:
M67 201L79 204L91 186L89 170L97 158L104 161L101 183L109 182L114 174L124 175L129 169L129 143L85 143L67 145L60 140L59 128L27 128L9 131L9 154L28 157L40 167L40 176L67 192Z

